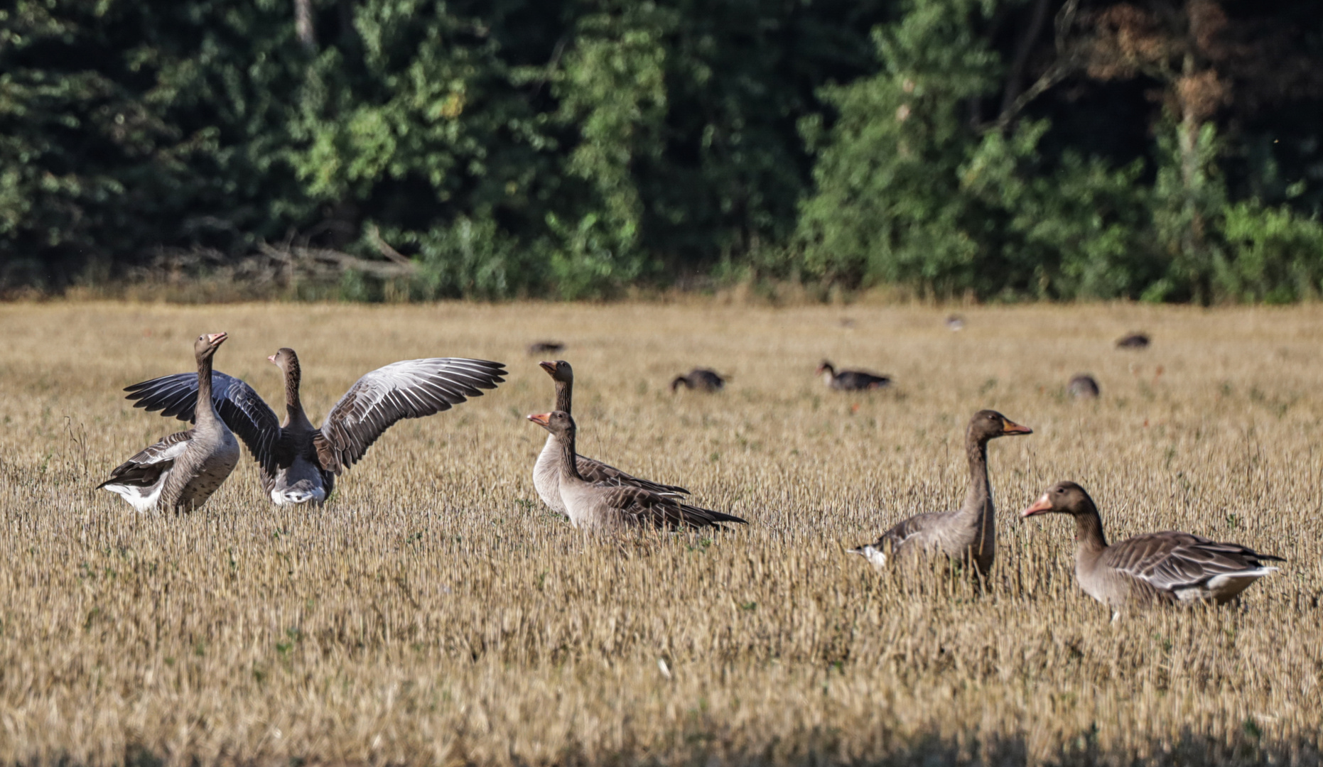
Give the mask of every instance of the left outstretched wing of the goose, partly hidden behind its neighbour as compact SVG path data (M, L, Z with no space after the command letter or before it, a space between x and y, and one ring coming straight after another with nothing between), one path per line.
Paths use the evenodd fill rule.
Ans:
M161 376L142 384L126 386L126 399L134 401L134 407L148 413L161 411L161 415L192 422L197 415L197 373L176 373ZM251 386L220 370L212 372L212 405L217 415L230 427L254 460L270 473L275 467L275 444L280 439L280 419Z

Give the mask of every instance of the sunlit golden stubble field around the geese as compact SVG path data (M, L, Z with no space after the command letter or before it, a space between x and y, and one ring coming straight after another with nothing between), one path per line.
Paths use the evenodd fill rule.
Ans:
M1323 308L687 304L0 307L0 763L1318 764ZM843 321L851 320L851 321ZM1147 331L1154 344L1113 341ZM93 488L183 424L120 389L218 370L280 409L292 346L320 418L396 360L507 362L497 390L392 427L324 508L278 509L247 458L201 510ZM598 537L537 500L576 370L579 451L738 514ZM828 391L823 358L896 378ZM672 394L693 366L730 376ZM1070 376L1102 397L1076 401ZM955 508L990 446L986 586L878 574L847 547ZM1286 557L1238 607L1113 623L1073 525L1019 510L1062 479L1109 538L1181 529Z

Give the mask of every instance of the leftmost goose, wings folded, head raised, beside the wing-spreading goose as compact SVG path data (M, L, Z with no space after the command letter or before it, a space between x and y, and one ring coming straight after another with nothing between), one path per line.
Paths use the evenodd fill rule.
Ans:
M197 413L197 424L171 434L115 467L110 479L97 485L119 493L139 512L164 508L191 512L212 497L239 462L239 443L212 406L212 357L228 339L205 333L193 343L197 374L193 387L208 394L208 406ZM187 376L187 374L185 374Z

